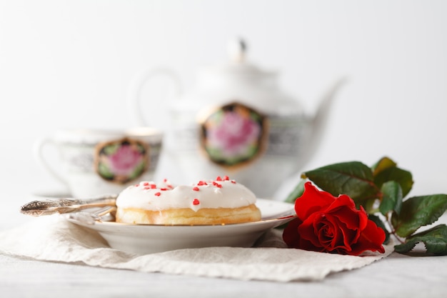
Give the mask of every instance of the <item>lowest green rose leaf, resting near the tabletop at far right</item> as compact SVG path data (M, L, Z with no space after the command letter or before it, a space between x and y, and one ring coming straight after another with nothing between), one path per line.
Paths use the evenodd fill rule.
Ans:
M447 226L439 224L424 232L414 234L408 237L404 244L396 245L394 249L400 253L410 252L419 242L423 242L426 246L427 254L447 255Z

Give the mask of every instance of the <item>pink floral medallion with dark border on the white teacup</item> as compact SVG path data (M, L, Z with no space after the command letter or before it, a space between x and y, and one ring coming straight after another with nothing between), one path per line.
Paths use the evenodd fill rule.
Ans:
M129 138L96 145L95 170L109 182L125 184L149 168L149 146Z

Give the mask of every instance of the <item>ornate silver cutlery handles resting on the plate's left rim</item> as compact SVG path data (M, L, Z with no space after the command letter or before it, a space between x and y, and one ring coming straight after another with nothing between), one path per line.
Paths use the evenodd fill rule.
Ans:
M29 202L21 207L20 212L34 217L54 213L78 212L83 209L115 206L116 195L108 195L96 199L44 199Z

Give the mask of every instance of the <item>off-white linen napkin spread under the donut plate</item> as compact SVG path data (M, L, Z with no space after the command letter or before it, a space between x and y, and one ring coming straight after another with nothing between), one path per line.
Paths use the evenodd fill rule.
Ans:
M285 247L281 231L273 229L252 248L206 247L136 255L111 249L97 232L57 215L38 217L0 232L0 252L4 254L141 272L275 282L321 280L331 272L371 264L393 251L389 245L384 254L356 257Z

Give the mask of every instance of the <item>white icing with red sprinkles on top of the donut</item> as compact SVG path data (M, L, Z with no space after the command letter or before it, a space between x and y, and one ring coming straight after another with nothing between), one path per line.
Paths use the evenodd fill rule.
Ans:
M127 187L116 199L116 207L159 211L190 208L238 208L256 203L256 196L228 177L172 187L163 183L140 182Z

